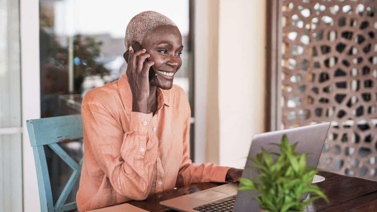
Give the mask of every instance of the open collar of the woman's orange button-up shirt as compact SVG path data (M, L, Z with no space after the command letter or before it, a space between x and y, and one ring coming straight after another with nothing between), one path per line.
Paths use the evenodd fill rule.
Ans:
M132 111L132 92L126 73L119 78L118 89L122 98L124 109L126 109L127 114L130 114ZM170 89L163 90L161 88L157 88L157 110L162 108L164 104L170 106L170 93Z

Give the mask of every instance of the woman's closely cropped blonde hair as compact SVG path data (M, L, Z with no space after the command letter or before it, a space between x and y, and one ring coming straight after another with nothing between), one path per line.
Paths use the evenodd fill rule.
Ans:
M152 32L158 26L176 26L175 23L155 11L144 11L135 15L127 25L126 36L124 36L124 45L126 48L130 42L141 42L144 37Z

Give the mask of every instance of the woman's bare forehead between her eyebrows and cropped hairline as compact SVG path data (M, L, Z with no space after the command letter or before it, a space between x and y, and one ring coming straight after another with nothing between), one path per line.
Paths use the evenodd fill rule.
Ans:
M143 39L144 45L155 45L169 42L173 46L182 45L182 35L176 26L159 26Z

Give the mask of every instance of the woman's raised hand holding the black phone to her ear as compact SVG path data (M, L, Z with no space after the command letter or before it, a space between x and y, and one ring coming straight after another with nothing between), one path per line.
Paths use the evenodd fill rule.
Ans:
M145 49L133 52L130 46L126 74L132 92L132 111L147 113L149 97L149 68L155 62L144 60L150 55Z

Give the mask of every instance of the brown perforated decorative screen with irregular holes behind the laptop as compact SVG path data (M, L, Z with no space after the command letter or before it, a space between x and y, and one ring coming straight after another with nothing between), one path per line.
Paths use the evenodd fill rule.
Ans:
M331 121L319 167L377 180L377 0L278 6L280 128Z

